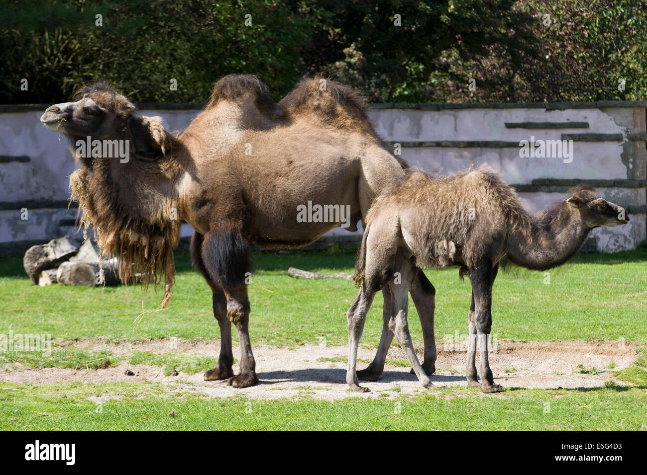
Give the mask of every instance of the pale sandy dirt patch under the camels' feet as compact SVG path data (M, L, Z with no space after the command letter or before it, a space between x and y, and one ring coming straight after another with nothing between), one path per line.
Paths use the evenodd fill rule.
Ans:
M111 350L115 355L128 355L135 350L151 353L177 353L193 355L219 354L217 341L186 341L180 339L153 340L142 343L105 343L97 340L63 342L63 345L94 350ZM641 344L618 341L556 341L517 342L499 341L496 352L490 352L490 366L495 381L504 388L591 388L603 386L606 381L616 381L613 370L626 368L635 358ZM422 359L422 347L417 346ZM234 348L234 356L238 348ZM204 381L201 373L166 376L159 366L128 364L122 361L114 367L99 370L63 368L14 368L5 364L0 371L0 381L47 385L69 381L82 383L109 383L115 381L156 381L168 385L169 392L189 391L209 397L247 396L254 399L309 396L314 399L334 400L344 397L385 397L397 394L421 394L410 366L387 364L379 381L360 381L371 390L355 393L347 390L345 346L300 346L294 350L272 346L254 347L259 385L236 389L225 381ZM367 366L375 350L360 348L358 368ZM432 376L437 386L465 386L465 352L448 351L439 345L437 372ZM479 355L476 355L477 361ZM404 352L393 347L389 359L405 360ZM609 368L614 366L613 370ZM135 375L124 374L126 369ZM580 370L593 370L587 374ZM237 365L234 365L236 372ZM506 372L507 370L507 372ZM596 374L597 373L597 374ZM626 383L622 383L626 384Z

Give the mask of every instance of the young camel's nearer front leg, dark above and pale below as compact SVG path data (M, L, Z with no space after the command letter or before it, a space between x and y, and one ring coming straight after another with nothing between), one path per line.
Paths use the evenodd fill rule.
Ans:
M474 326L476 326L479 354L481 355L479 376L481 377L481 390L485 393L503 391L501 385L494 384L494 377L492 376L492 370L490 370L487 354L488 337L492 330L492 283L494 275L496 274L492 261L487 258L479 260L475 268L470 269L472 293L474 294Z

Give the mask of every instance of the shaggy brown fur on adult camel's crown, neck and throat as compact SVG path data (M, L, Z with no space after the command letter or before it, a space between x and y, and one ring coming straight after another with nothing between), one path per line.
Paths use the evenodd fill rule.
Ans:
M179 242L180 221L170 219L178 197L173 186L165 184L179 169L164 153L180 143L164 130L159 118L132 116L135 106L107 83L83 87L75 97L91 99L113 114L116 130L110 138L128 140L137 158L115 166L117 158L75 154L82 166L70 176L71 200L79 202L83 226L93 226L102 255L117 258L118 275L124 282L135 282L135 274L141 273L146 286L150 282L157 286L164 277L165 308L175 276L173 248Z

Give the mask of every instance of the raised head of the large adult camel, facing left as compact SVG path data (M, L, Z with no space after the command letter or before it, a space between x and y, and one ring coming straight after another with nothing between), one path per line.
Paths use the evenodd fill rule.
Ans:
M71 139L91 136L114 138L117 127L124 127L135 105L104 81L85 86L76 92L73 102L50 105L41 116L45 127Z

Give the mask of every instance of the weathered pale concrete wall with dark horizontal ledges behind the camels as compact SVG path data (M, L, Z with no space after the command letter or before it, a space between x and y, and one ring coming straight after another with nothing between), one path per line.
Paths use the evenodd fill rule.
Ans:
M2 107L12 112L1 113ZM0 106L0 252L73 235L76 209L67 210L74 160L67 141L39 121L45 105ZM167 129L183 130L198 107L149 107ZM647 150L644 103L523 105L376 105L371 118L402 158L428 171L454 173L490 164L520 191L529 211L564 198L570 185L588 182L626 207L630 224L595 229L601 251L635 248L646 238ZM521 158L521 140L573 140L573 160ZM27 220L21 209L27 208ZM182 235L192 229L182 227ZM335 229L330 235L347 235Z

